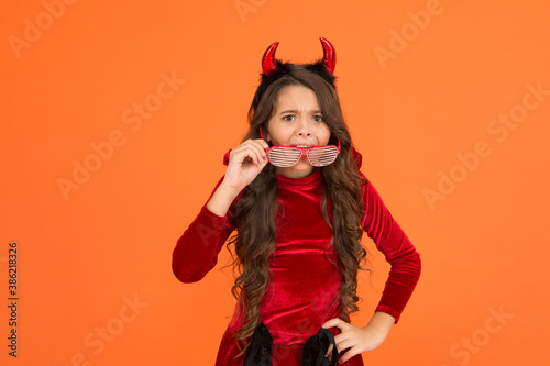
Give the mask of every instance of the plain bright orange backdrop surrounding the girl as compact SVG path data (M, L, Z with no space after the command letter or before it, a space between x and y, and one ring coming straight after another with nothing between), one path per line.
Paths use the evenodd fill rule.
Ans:
M402 321L366 363L548 364L550 96L527 97L527 115L518 106L527 85L550 90L549 14L542 0L4 2L1 364L213 364L234 304L231 271L220 270L228 252L183 285L172 251L246 130L265 48L279 41L278 57L309 62L322 55L320 35L337 48L362 170L424 265ZM381 49L392 57L378 59ZM161 87L162 75L185 82ZM154 111L139 124L133 108L145 101ZM509 113L521 122L493 122ZM85 162L95 171L64 193L59 179ZM444 193L430 203L426 189ZM7 347L12 241L16 359ZM365 245L374 275L361 280L359 325L388 270Z

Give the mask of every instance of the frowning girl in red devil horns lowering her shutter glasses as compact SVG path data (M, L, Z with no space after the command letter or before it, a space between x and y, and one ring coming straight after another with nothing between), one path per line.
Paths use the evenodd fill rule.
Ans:
M363 365L361 353L382 344L420 275L418 253L360 171L336 91L336 53L321 44L323 58L307 65L275 59L278 43L267 48L249 132L226 154L226 175L173 253L176 277L198 281L238 231L228 243L237 307L216 365L301 365L319 351L315 342L322 365ZM363 231L392 269L374 315L358 326L349 321Z

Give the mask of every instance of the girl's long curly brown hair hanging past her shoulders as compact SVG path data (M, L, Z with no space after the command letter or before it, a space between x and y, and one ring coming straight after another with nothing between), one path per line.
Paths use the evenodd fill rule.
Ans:
M254 98L249 110L250 129L243 141L261 138L260 127L267 131L278 93L287 86L304 86L316 93L324 123L331 133L329 144L338 144L338 141L341 143L341 153L337 160L320 168L326 184L321 212L332 229L333 239L330 245L336 246L342 274L340 315L349 321L350 314L358 311L358 273L366 257L366 251L361 245L361 218L364 213L361 187L366 180L359 175L350 133L336 89L319 75L306 69L284 75L271 84L261 98ZM268 258L275 251L277 210L275 167L267 164L238 201L233 217L238 232L228 242L228 247L234 245L237 256L235 258L232 255L235 281L231 292L238 300L237 318L242 320L242 326L234 333L241 348L240 355L245 352L258 324L260 304L270 281ZM328 210L332 210L332 221L329 220Z

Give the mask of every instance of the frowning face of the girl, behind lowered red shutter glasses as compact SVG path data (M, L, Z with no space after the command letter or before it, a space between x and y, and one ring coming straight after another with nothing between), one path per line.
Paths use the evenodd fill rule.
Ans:
M275 113L267 123L267 141L282 146L327 145L330 130L322 118L316 93L304 86L288 86L280 89ZM302 178L316 169L302 157L292 167L277 167L277 173Z

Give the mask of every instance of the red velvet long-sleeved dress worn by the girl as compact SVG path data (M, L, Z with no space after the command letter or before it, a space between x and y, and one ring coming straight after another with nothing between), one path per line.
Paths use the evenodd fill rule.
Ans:
M294 366L301 364L307 339L327 320L340 317L341 274L334 246L327 249L332 231L320 211L324 187L321 170L306 178L277 175L277 179L280 206L276 249L270 258L273 277L262 300L260 321L273 336L273 365ZM420 257L371 182L363 187L363 200L366 212L362 228L392 265L376 311L398 320L418 281ZM173 253L173 270L179 280L198 281L216 266L219 251L235 229L232 214L233 207L226 217L202 207ZM235 312L221 340L216 365L243 364L243 356L235 358L239 351L232 336L241 324ZM338 329L331 331L339 333ZM344 365L363 365L361 355Z

